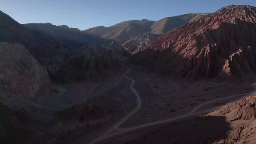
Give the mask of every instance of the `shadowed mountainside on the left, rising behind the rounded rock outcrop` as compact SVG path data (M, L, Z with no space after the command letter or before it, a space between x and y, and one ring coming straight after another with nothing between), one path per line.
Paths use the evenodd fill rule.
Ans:
M111 50L115 50L114 47L104 49L111 43L109 39L102 39L65 25L21 25L2 12L0 20L3 20L3 23L0 23L0 42L25 45L41 65L48 69L53 82L93 82L92 80L109 79L114 72L119 73L114 68L119 69L120 65L113 58L119 56L118 51L111 53Z

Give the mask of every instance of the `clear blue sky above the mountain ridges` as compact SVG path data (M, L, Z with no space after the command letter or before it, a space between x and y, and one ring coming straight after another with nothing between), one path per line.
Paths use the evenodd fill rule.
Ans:
M125 20L160 20L185 13L215 12L256 0L0 0L0 10L19 23L53 23L81 30Z

